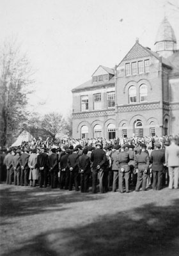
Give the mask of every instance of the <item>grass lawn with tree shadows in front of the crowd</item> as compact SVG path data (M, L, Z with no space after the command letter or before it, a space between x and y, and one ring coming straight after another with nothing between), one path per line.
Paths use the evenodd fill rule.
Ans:
M3 256L179 255L179 189L0 189Z

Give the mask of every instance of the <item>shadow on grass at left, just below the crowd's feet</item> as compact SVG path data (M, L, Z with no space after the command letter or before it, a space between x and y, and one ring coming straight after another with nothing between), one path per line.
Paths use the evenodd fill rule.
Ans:
M13 186L13 185L12 185ZM101 200L102 195L91 195L81 191L1 186L1 217L28 216L43 212L64 211L65 205L90 200ZM3 225L1 223L0 225Z

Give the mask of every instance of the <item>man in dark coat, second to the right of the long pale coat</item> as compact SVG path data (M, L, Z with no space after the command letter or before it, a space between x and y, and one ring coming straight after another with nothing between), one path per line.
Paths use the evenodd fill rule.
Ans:
M48 156L47 166L51 173L51 188L57 188L58 186L58 155L56 154L56 148L51 149L52 154Z

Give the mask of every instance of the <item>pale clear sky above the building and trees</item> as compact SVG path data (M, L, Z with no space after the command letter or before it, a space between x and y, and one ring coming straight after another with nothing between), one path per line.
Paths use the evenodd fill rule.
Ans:
M0 44L17 38L36 70L29 110L68 116L71 90L99 65L120 63L136 38L155 51L164 15L179 42L179 0L0 0Z

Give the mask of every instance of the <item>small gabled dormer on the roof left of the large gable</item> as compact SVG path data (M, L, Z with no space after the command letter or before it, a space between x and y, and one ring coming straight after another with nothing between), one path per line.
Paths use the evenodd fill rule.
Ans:
M92 83L105 83L114 76L113 68L107 68L100 65L92 75Z

